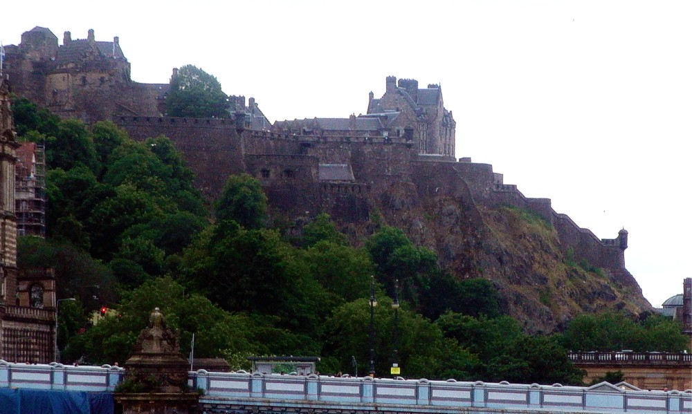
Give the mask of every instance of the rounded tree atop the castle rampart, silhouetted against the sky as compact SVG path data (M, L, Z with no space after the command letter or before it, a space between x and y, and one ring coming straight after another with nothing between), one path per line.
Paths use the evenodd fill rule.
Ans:
M179 117L228 117L228 96L213 75L185 65L178 70L166 96L166 111Z

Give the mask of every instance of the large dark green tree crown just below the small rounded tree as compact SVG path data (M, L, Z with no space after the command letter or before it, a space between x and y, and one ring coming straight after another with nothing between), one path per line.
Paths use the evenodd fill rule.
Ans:
M274 230L224 220L185 253L183 267L222 308L275 315L282 326L310 332L327 313L327 292L293 249Z

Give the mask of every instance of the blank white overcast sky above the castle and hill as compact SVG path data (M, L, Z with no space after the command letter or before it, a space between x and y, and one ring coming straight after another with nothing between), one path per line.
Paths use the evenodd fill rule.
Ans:
M13 1L0 41L93 28L120 37L135 81L194 64L272 122L365 113L387 75L441 84L457 157L600 238L625 227L628 270L660 305L692 276L691 17L653 0Z

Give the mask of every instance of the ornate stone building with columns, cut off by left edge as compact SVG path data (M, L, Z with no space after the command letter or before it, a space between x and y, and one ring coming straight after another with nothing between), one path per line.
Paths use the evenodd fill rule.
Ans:
M55 276L17 269L15 139L10 87L0 84L0 359L48 363L55 359Z

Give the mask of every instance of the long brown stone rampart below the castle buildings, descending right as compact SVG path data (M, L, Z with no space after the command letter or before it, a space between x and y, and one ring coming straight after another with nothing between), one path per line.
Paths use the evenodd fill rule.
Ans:
M388 196L404 194L453 196L488 207L512 205L543 216L560 234L565 252L574 250L597 267L624 269L619 238L600 240L552 209L547 198L527 198L515 185L504 185L489 164L453 158L419 156L405 138L320 137L239 131L234 120L174 117L116 117L132 138L165 135L183 152L197 174L203 193L215 198L230 174L246 172L259 179L271 204L286 214L312 216L327 211L347 223L370 217L372 198L392 209L415 205ZM349 164L355 182L320 182L319 164ZM408 188L408 189L406 189ZM478 217L480 213L475 211Z

